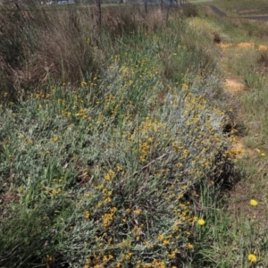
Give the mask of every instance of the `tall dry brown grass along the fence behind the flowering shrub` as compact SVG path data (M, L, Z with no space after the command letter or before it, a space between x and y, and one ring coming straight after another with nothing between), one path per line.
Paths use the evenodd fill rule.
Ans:
M90 8L0 13L0 95L13 97L48 80L79 84L107 62L116 38L160 26L163 13L145 14L140 6L105 9L102 30Z

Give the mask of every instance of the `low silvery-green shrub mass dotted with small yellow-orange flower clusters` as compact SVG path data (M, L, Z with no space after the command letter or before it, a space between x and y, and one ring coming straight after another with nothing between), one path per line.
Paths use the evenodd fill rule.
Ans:
M43 263L49 255L74 267L162 267L179 265L192 250L197 215L189 196L221 174L217 159L230 147L225 115L186 84L162 96L161 77L147 64L115 63L103 80L76 91L56 86L3 113L1 172L12 165L18 222L47 218L29 237L37 247L31 255ZM56 239L41 250L53 229ZM32 260L31 247L1 236L4 258L13 250L21 263Z

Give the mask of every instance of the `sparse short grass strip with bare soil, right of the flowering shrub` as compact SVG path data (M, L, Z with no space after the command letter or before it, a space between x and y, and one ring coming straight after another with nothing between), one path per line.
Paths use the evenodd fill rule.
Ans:
M232 28L234 22L232 19L224 19L222 29L226 29L228 24L228 27ZM226 193L220 211L214 209L214 202L207 197L207 192L203 188L202 196L206 197L205 204L208 204L208 208L204 209L204 217L209 214L209 219L213 219L213 222L208 224L206 235L200 231L200 250L197 252L201 254L195 257L202 261L197 266L194 262L193 267L266 267L268 265L267 116L266 105L264 105L267 102L266 51L257 49L258 45L265 45L259 36L265 23L253 21L240 23L241 21L235 30L239 34L235 38L235 43L249 41L255 42L256 46L243 48L234 45L220 52L227 75L235 74L245 83L245 90L234 96L239 101L237 123L245 126L242 132L239 131L240 139L245 146L245 153L237 163L240 181L233 190ZM222 34L225 33L223 30ZM232 33L230 37L233 37ZM233 39L230 38L229 43L232 42ZM213 197L213 199L217 198ZM258 204L250 205L251 199L256 199ZM256 262L251 263L247 259L249 254L256 256Z

